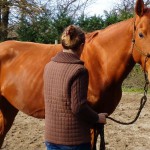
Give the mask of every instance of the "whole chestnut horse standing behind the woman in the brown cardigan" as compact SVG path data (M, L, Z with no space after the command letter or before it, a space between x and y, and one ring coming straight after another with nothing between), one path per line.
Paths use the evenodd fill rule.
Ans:
M61 45L0 43L0 146L18 111L44 118L43 70ZM150 9L137 0L135 17L89 33L81 59L89 71L88 102L112 114L122 96L122 82L150 53ZM150 78L150 60L146 70Z

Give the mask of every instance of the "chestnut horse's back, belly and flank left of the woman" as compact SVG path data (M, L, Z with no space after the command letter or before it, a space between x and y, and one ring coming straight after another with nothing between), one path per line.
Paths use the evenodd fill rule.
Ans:
M26 114L44 117L43 71L46 63L60 50L60 45L0 43L1 95Z

